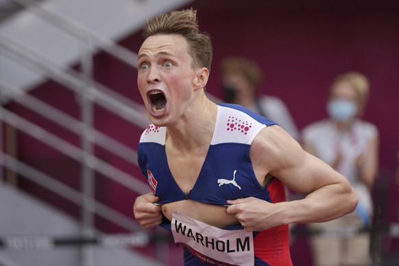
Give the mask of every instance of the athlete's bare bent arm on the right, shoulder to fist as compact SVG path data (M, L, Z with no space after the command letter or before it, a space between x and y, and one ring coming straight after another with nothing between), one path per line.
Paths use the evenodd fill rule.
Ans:
M267 173L304 199L270 204L253 197L228 201L227 212L235 215L245 230L260 231L287 223L336 219L356 208L357 196L349 182L326 163L304 152L280 128L270 126L254 139L251 159L258 180Z

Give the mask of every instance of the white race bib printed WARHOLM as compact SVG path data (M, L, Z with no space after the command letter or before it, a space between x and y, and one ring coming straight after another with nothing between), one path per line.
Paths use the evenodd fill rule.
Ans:
M176 246L184 245L191 254L210 265L254 265L252 232L223 230L173 212L171 230Z

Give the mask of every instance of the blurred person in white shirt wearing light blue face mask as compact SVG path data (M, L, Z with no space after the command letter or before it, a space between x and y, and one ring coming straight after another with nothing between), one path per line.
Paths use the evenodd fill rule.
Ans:
M330 87L326 110L329 118L302 130L304 149L327 162L345 176L357 195L356 211L335 221L313 223L313 229L370 226L371 189L378 171L378 129L361 120L367 101L367 77L358 72L338 75ZM311 239L315 265L369 265L370 239L367 234L350 237Z

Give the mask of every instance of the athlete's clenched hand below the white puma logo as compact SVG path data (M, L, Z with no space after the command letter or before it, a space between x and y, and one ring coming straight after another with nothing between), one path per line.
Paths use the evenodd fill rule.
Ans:
M279 204L271 204L256 197L228 200L227 213L234 215L246 231L263 231L281 226Z

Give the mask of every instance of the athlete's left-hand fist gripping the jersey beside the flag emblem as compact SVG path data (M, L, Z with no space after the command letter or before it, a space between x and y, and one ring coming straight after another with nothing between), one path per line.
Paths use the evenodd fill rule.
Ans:
M162 210L160 205L154 204L159 198L153 193L147 193L136 197L133 206L134 218L145 229L159 226L162 222Z

